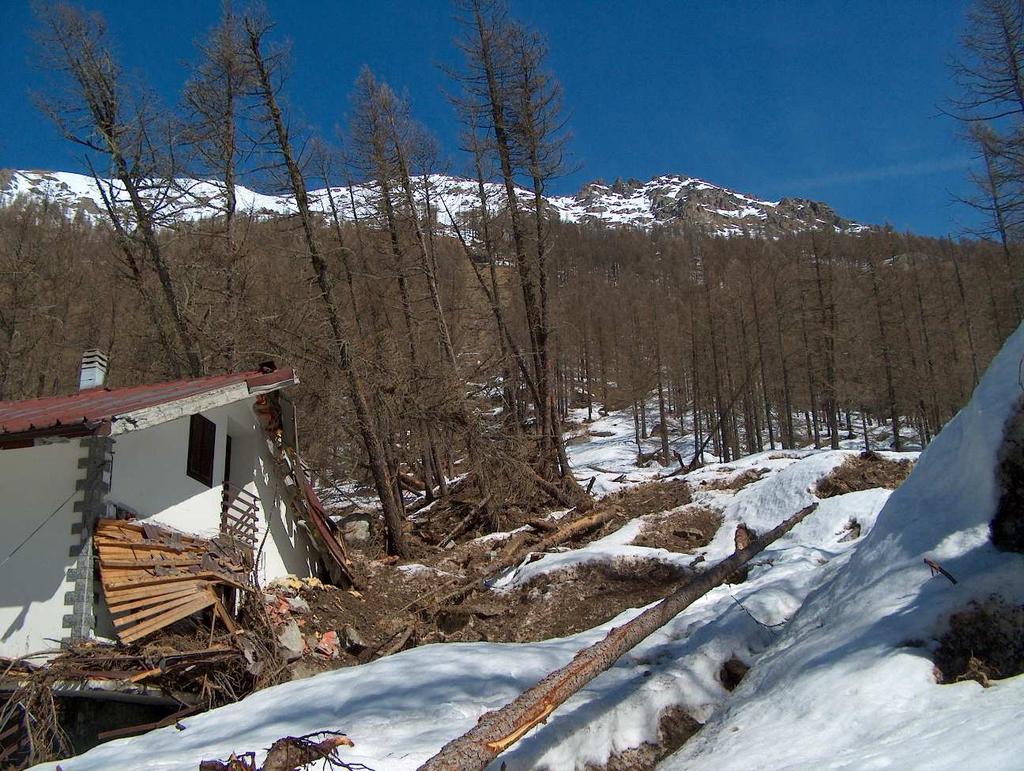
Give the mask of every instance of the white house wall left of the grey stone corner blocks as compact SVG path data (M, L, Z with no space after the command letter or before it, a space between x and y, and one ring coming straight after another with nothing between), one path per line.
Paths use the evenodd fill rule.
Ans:
M0 567L0 655L22 656L59 647L65 594L75 565L69 550L80 541L72 524L82 500L75 482L86 451L78 439L0 449L0 561L54 511L56 514Z

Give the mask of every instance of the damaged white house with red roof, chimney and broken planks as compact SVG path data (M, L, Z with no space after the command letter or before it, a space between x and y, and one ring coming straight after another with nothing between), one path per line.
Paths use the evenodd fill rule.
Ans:
M0 657L141 640L195 614L232 630L238 593L347 574L301 471L291 369L0 402Z

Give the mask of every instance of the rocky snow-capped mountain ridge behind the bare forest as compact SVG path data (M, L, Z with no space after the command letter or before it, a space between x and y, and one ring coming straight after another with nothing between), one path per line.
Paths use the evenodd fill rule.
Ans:
M429 203L442 226L451 225L453 216L462 219L478 210L475 180L441 174L418 180L419 205L426 206L429 182ZM488 208L498 209L504 187L485 183ZM9 206L25 198L47 201L72 214L97 217L104 208L104 195L115 205L126 206L123 187L114 180L96 180L84 174L63 171L0 170L0 206ZM223 211L223 185L209 180L175 179L173 185L154 185L150 196L161 201L161 217L167 223L190 221L216 216ZM374 219L377 196L373 184L310 190L312 208L330 215L332 203L338 216L345 220ZM523 201L532 194L519 189ZM288 216L296 211L292 196L258 192L237 185L236 198L240 211L258 217ZM333 199L333 201L332 201ZM554 196L547 199L551 210L567 222L601 224L612 227L651 227L689 225L715 235L750 233L777 237L812 229L836 232L858 232L865 225L839 216L826 204L798 198L764 201L712 184L694 177L667 175L647 182L616 180L590 182L574 196Z

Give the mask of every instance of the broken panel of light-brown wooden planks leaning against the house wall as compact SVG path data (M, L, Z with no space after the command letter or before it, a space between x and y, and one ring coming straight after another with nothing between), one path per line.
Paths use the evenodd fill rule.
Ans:
M248 546L224 536L207 540L120 519L100 519L94 542L103 597L121 642L135 642L207 608L228 632L237 631L227 607L237 591L252 589Z

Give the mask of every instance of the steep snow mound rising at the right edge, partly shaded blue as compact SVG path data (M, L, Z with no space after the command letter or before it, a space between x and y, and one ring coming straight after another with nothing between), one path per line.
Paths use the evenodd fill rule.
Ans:
M804 603L728 706L660 768L1020 767L1024 677L989 689L938 685L931 649L971 600L1024 600L1024 557L996 551L988 538L1022 357L1024 327L846 567ZM926 557L958 583L933 577Z

